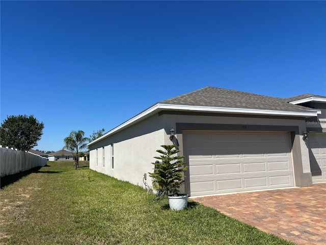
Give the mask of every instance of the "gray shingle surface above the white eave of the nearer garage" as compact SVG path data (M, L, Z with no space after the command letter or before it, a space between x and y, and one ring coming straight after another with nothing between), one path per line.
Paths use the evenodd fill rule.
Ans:
M289 104L286 99L210 86L181 94L158 104L310 112L306 107Z

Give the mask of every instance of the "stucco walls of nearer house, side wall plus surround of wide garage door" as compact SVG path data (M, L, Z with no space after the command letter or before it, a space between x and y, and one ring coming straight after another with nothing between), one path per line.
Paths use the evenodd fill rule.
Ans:
M299 135L293 137L293 169L296 186L307 186L311 183L309 152L302 140L306 131L305 118L281 119L211 116L211 115L177 115L155 114L117 132L101 141L90 145L90 168L119 180L128 181L144 187L143 176L147 174L147 184L151 186L148 176L153 171L151 162L155 161L156 150L162 144L171 144L169 139L171 128L176 130L177 123L192 124L223 124L223 125L264 125L291 126L298 129ZM182 134L176 134L180 155L183 155ZM114 144L114 168L112 169L111 144ZM104 167L102 147L104 146ZM97 149L97 150L96 150ZM96 160L96 151L98 158ZM97 164L96 164L97 162ZM181 190L182 191L182 190Z

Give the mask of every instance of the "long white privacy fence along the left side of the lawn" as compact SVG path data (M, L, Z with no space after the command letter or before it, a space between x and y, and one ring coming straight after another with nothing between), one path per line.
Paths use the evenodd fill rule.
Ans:
M2 147L0 145L0 171L1 177L13 175L33 167L45 166L47 158L31 152Z

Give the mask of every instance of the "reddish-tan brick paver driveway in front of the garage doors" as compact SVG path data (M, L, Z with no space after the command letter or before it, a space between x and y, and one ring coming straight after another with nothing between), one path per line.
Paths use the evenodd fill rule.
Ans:
M193 200L297 244L326 244L326 183Z

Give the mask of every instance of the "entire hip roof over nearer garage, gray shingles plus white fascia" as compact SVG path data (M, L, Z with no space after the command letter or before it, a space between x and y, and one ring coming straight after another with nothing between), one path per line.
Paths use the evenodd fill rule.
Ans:
M266 115L279 114L305 117L315 116L317 114L317 112L309 110L307 107L290 104L286 99L208 86L157 102L101 137L93 140L88 145L92 145L130 125L136 124L142 118L161 110L194 110Z

